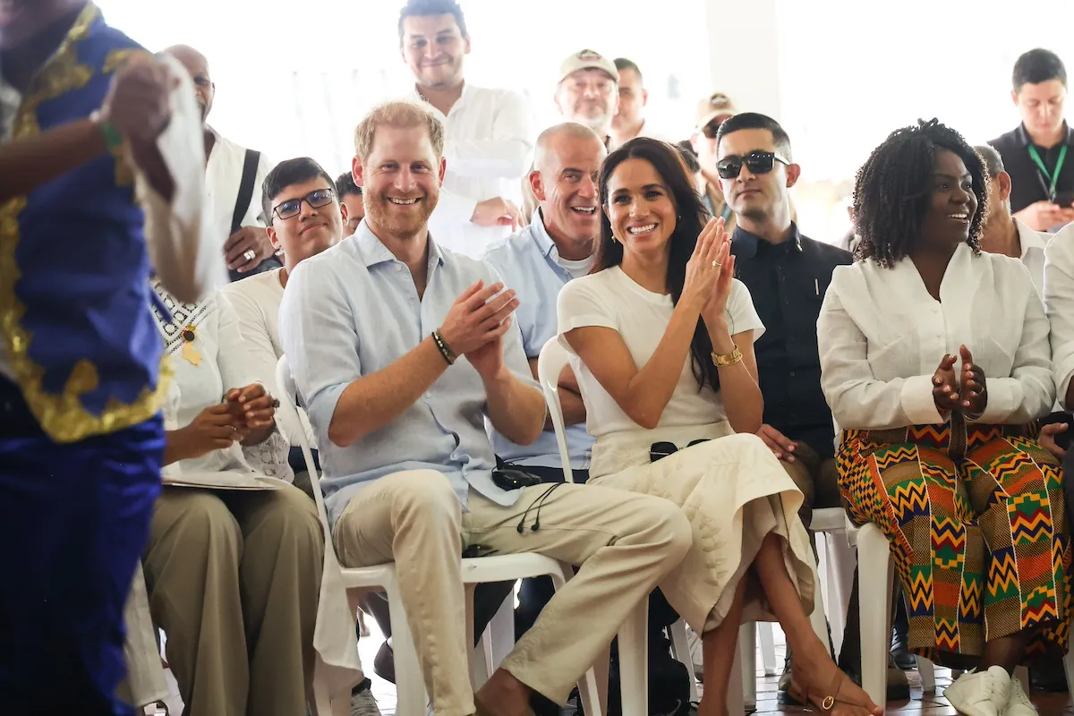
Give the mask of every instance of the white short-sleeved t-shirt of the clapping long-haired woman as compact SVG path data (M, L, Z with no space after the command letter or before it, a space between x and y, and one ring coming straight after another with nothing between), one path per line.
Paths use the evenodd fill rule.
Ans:
M642 428L600 385L563 334L584 326L613 328L622 336L640 368L652 357L673 310L670 295L647 291L619 266L583 276L563 287L557 302L560 342L571 354L570 366L585 403L585 427L593 437L599 439L603 435ZM753 339L756 340L765 332L765 325L753 307L750 290L738 279L735 279L727 298L727 317L731 335L753 331ZM687 356L657 427L710 425L724 420L727 420L727 412L720 394L709 388L697 390L692 356Z

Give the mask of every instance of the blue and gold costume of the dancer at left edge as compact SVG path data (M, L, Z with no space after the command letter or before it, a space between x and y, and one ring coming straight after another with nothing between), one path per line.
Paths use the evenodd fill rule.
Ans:
M88 3L12 137L89 116L141 52ZM164 448L144 225L121 150L0 204L0 714L133 713L122 612Z

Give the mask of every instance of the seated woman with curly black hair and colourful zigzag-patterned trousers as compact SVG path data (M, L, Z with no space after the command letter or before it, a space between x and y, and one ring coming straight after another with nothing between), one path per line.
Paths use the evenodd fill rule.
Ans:
M817 335L840 492L890 540L911 649L975 667L944 693L959 713L1031 716L1010 674L1065 652L1071 552L1059 463L1028 429L1056 398L1048 321L1026 268L979 250L987 178L937 120L891 133Z

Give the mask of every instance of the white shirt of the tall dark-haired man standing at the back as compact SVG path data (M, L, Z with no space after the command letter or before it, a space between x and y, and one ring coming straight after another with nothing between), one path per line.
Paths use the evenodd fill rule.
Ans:
M502 196L521 206L520 180L529 170L534 125L526 99L507 89L463 85L447 116L422 102L446 128L447 172L440 200L429 219L440 246L479 258L484 248L511 234L510 227L479 227L470 221L478 202Z

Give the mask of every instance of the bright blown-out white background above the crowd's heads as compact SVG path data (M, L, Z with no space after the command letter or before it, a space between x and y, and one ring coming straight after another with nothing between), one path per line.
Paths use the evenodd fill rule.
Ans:
M351 132L373 104L411 86L398 53L403 0L97 0L108 21L157 50L202 50L217 86L211 123L280 160L349 169ZM556 120L561 60L592 48L637 62L649 121L686 138L697 100L729 91L777 115L802 164L799 223L846 229L854 172L892 129L939 117L972 143L1018 123L1015 58L1057 52L1074 71L1071 0L461 0L467 78L525 92L538 128Z

